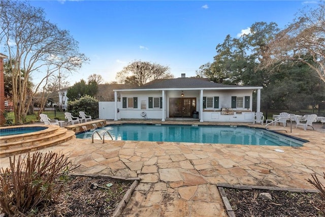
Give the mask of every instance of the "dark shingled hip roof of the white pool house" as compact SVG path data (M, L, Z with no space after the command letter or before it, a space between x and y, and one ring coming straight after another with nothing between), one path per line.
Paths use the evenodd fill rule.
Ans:
M208 79L202 78L171 78L157 79L132 89L119 89L120 91L127 90L168 90L168 89L262 89L257 86L240 86L226 85L214 83Z

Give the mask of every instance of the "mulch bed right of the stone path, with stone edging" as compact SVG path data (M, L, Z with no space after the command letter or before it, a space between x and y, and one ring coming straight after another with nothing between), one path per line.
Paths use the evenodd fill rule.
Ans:
M230 216L324 216L325 201L316 190L218 187ZM222 192L223 190L223 192ZM267 198L267 195L270 198ZM267 194L266 194L267 193Z

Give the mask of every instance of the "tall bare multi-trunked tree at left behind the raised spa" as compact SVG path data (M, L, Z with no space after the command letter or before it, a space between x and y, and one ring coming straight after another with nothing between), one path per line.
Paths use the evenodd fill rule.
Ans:
M0 14L1 45L12 70L15 123L22 123L33 96L49 78L59 69L75 71L87 58L79 53L78 43L67 30L45 20L43 9L27 2L0 0ZM41 80L28 92L28 80L35 73Z

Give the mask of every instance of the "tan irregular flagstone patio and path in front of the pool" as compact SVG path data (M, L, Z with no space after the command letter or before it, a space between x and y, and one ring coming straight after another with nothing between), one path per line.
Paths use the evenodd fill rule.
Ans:
M220 182L313 189L306 179L325 172L325 133L294 128L288 134L310 142L295 148L74 139L42 151L66 154L81 164L78 173L140 177L122 216L226 216Z

